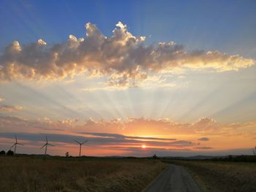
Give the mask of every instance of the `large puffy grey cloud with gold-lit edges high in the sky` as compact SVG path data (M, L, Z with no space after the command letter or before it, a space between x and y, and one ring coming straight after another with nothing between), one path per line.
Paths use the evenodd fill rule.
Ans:
M88 74L106 76L109 86L136 87L150 75L180 69L238 70L255 64L251 58L217 50L187 53L183 45L159 42L146 45L121 22L106 37L96 25L86 24L86 37L69 35L67 42L47 45L43 39L5 47L0 55L0 80L62 80Z

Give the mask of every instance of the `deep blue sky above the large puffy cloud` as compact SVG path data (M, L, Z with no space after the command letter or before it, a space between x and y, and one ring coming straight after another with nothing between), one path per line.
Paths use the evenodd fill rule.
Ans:
M121 20L149 42L255 57L255 1L1 1L0 47L84 37L85 23L109 36ZM243 37L243 38L241 38ZM237 46L239 45L239 46Z

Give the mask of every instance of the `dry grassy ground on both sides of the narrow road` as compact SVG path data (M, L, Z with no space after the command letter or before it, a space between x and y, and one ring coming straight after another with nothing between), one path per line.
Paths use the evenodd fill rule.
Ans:
M0 156L0 191L143 191L170 169L162 161L183 166L202 191L256 191L256 163L37 155Z

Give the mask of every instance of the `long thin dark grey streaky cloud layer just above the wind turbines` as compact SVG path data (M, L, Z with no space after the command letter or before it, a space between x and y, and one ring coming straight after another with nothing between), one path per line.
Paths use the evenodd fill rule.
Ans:
M78 136L78 135L72 135L72 134L47 134L47 133L41 133L41 134L31 134L31 133L0 133L1 138L8 138L12 139L16 135L19 139L22 140L28 140L30 142L41 142L45 135L48 135L48 139L50 142L62 142L67 144L75 144L74 139L78 141L84 141L86 139L89 139L89 142L87 145L108 145L112 147L124 145L126 147L140 147L144 142L148 145L148 147L154 146L162 146L165 147L165 149L168 148L183 148L183 147L189 147L194 146L195 143L189 142L189 141L175 141L175 142L169 142L168 140L161 138L151 138L147 141L144 141L144 139L141 139L140 137L133 137L129 138L124 135L117 134L114 137L106 137L105 135L108 135L107 133L101 133L99 135L102 135L102 137L94 137L95 133L86 133L84 136ZM99 136L97 135L97 136ZM113 135L113 134L112 134Z

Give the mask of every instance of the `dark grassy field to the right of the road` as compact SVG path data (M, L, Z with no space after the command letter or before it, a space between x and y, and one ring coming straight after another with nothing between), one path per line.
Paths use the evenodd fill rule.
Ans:
M171 161L184 166L203 191L256 191L256 163Z

